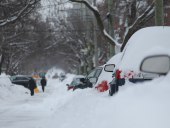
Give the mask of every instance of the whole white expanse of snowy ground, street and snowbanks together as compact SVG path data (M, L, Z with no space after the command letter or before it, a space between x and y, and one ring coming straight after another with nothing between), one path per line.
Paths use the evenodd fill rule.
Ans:
M0 85L0 128L170 128L170 74L127 83L113 97L91 88L67 91L73 77L48 79L45 93L40 88L33 97Z

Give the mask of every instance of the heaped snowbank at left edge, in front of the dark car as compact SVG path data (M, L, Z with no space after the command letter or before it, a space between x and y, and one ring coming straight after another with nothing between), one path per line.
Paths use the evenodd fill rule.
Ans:
M0 75L0 102L6 100L21 99L27 96L29 90L20 85L14 85L11 83L9 76Z

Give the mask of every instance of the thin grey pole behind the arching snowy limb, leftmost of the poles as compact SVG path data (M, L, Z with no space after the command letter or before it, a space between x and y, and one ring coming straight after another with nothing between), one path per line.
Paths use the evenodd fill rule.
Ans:
M93 4L94 6L96 6L96 0L93 0ZM96 29L97 29L97 25L96 25L96 19L95 17L93 18L93 38L94 38L94 61L95 61L95 67L98 66L98 43L97 43L97 33L96 33Z

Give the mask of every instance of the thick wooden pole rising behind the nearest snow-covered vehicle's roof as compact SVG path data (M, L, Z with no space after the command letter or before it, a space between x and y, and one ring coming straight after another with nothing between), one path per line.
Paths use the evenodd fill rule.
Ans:
M155 0L155 25L164 25L164 6L163 0Z

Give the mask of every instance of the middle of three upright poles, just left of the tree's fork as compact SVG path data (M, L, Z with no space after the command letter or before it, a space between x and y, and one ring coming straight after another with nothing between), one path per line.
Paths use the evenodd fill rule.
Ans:
M113 0L108 0L108 27L109 27L109 34L114 37L114 10L113 10L114 2ZM109 58L115 54L115 46L109 44Z

